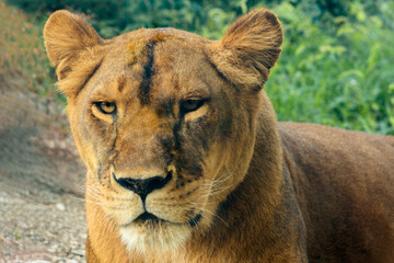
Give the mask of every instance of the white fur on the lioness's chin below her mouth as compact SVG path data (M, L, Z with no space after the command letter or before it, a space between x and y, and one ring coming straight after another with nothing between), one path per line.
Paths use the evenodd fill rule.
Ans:
M176 252L190 236L187 225L166 225L162 227L130 226L120 228L120 237L128 251L142 254L152 252Z

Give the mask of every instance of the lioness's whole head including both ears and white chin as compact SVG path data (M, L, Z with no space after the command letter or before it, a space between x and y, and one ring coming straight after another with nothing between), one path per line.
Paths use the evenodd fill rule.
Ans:
M221 41L174 28L103 39L58 11L44 36L88 168L86 199L127 248L165 251L209 229L248 169L262 87L280 54L277 18L253 11Z

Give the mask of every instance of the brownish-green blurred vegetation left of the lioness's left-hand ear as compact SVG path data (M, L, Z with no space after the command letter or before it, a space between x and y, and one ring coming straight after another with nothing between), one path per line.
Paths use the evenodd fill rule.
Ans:
M43 96L56 93L39 37L42 27L27 22L21 10L1 0L0 24L0 83L30 89Z

